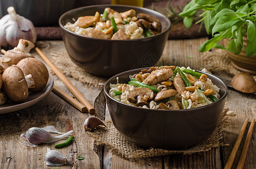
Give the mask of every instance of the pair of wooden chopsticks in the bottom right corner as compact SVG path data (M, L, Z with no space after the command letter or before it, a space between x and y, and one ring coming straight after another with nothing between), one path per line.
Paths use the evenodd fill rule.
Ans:
M240 133L239 133L239 135L237 137L236 143L233 146L232 152L229 155L228 161L225 164L224 169L228 169L228 168L232 167L233 161L234 161L234 159L236 157L237 150L240 147L240 144L241 144L241 141L242 141L242 137L245 134L245 130L246 130L246 127L248 125L248 121L249 121L249 119L246 118L244 124L242 125L241 131L240 131ZM253 135L254 124L255 124L255 119L253 119L253 121L251 121L248 133L246 135L245 143L244 143L244 146L242 148L240 159L239 159L238 164L237 164L237 168L243 168L244 167L246 155L247 155L247 152L248 152L248 149L249 149L251 135Z

